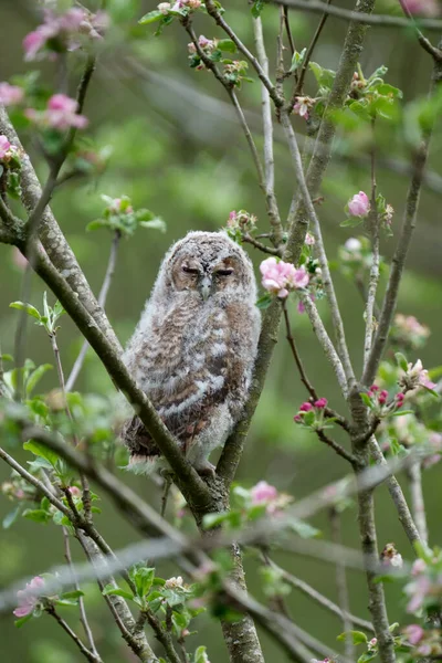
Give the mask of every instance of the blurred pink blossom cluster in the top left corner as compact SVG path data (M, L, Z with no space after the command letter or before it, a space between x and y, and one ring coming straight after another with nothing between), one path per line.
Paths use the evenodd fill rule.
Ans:
M44 12L44 21L23 40L25 60L32 61L45 54L55 56L60 51L75 51L81 46L81 38L99 40L108 28L108 14L104 11L92 13L74 7L64 13Z

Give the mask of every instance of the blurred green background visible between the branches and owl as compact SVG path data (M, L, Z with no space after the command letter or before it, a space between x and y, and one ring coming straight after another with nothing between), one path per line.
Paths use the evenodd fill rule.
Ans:
M98 291L105 271L110 235L105 231L86 233L85 227L103 210L101 194L129 196L136 207L148 207L167 223L166 234L140 229L120 246L117 271L107 303L107 314L117 334L125 343L129 337L154 283L158 265L166 249L189 230L217 230L225 224L232 209L246 209L259 217L261 232L265 232L264 202L256 186L253 165L248 146L223 90L207 72L188 67L187 35L178 24L168 28L161 38L154 38L151 28L137 27L136 21L144 12L154 9L155 2L138 0L110 0L107 8L114 25L99 59L85 113L91 118L91 134L98 148L110 148L106 172L96 185L90 182L66 183L53 200L53 211L74 249L87 278L95 292ZM379 9L382 3L379 2ZM391 4L391 3L390 3ZM351 2L343 3L350 8ZM93 4L91 4L93 7ZM253 46L251 15L245 0L225 2L229 20L245 42ZM298 11L292 14L296 48L308 45L318 18ZM271 63L275 61L277 10L267 7L263 14ZM38 24L33 1L2 0L0 2L0 81L33 69L22 61L21 41ZM208 38L220 36L204 18L197 20L197 31ZM330 19L314 54L314 61L323 66L336 69L346 23ZM74 59L75 60L75 59ZM288 62L288 56L287 56ZM430 57L417 45L412 34L398 30L371 29L361 56L362 69L371 73L380 64L389 66L387 81L403 90L404 103L424 95L428 90ZM43 63L44 80L51 84L53 65ZM78 67L72 72L72 90ZM308 85L307 85L308 87ZM312 87L312 93L315 90ZM241 103L248 110L251 127L260 137L260 88L257 83L244 84L240 92ZM294 119L299 139L305 129L301 118ZM362 133L364 134L364 133ZM287 149L276 127L276 192L282 213L285 214L294 191L294 177ZM351 231L339 228L347 199L359 191L368 190L369 171L364 165L367 158L364 135L340 135L336 141L338 150L354 157L352 160L336 156L328 168L323 193L325 203L319 209L329 260L335 260L337 246L351 236ZM45 168L35 156L39 173L44 178ZM440 337L442 317L439 303L442 298L441 284L441 196L442 180L436 175L442 165L440 128L433 139L430 169L433 177L425 187L419 213L419 224L408 261L408 271L400 292L399 309L412 314L427 324L432 335L421 352L424 366L441 364ZM378 136L379 161L399 159L407 164L408 150L400 131L387 124ZM355 161L356 159L356 161ZM362 165L361 165L362 162ZM408 178L394 172L390 165L378 170L379 190L396 209L394 238L382 241L382 254L390 256L398 236L400 219L404 208ZM261 255L250 251L257 265ZM8 308L10 302L20 298L22 272L14 263L13 250L0 245L0 338L2 350L13 351L13 337L18 315ZM360 369L362 355L362 304L354 285L339 273L336 288L341 302L351 356ZM36 278L32 283L31 302L41 304L43 288ZM327 308L320 309L327 323ZM339 399L334 376L324 360L322 351L311 332L305 316L291 312L296 339L308 375L317 390L329 398L332 404L345 412ZM81 346L81 339L67 318L62 319L59 334L62 361L66 372L71 368ZM41 328L30 325L27 356L36 364L52 362L50 344ZM413 357L414 358L414 357ZM417 358L417 357L415 357ZM48 373L42 387L55 386L54 371ZM112 393L113 387L93 354L88 355L77 388L84 392ZM319 445L312 435L302 434L293 425L293 414L304 400L288 349L281 335L265 391L261 398L256 417L238 475L239 482L251 486L261 478L294 495L295 499L311 493L328 482L344 475L347 469L340 459ZM23 452L18 457L30 460ZM436 465L425 473L424 496L428 507L431 543L440 543L440 504L442 466ZM0 481L9 476L9 470L0 466ZM160 496L155 486L145 478L124 476L149 503L159 505ZM103 515L97 516L97 526L108 543L117 549L136 540L138 535L124 517L103 496ZM11 504L0 497L0 517L11 509ZM377 492L379 545L394 541L406 558L411 549L401 530L396 512L385 488ZM329 537L326 514L313 522ZM356 513L345 513L344 540L358 547ZM82 551L74 546L76 559ZM281 554L275 558L295 575L303 577L326 596L336 600L334 568L301 556ZM11 529L0 533L0 587L7 587L22 576L34 576L63 561L63 540L59 528L21 520ZM261 581L253 559L248 561L249 586L262 598ZM173 565L160 565L162 577L176 575ZM362 575L349 573L350 603L354 612L368 617L367 594ZM390 622L402 621L404 604L396 586L386 588L390 601ZM329 613L322 611L302 596L288 597L294 620L315 636L336 646L336 635L341 624ZM91 621L96 633L98 650L106 663L130 661L127 648L120 640L107 608L97 592L86 601ZM75 627L76 617L66 614ZM198 644L208 644L212 663L227 661L227 652L218 623L210 618L200 620L199 634L191 638L189 651ZM64 633L49 618L33 620L21 631L13 627L13 617L0 620L0 657L2 661L23 663L73 663L82 660ZM266 660L285 661L280 650L262 634Z

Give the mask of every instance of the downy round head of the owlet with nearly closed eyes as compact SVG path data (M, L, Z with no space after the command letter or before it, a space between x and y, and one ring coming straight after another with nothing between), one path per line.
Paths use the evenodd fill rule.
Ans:
M223 232L190 232L170 249L164 269L169 293L194 293L203 302L221 293L255 294L249 256Z

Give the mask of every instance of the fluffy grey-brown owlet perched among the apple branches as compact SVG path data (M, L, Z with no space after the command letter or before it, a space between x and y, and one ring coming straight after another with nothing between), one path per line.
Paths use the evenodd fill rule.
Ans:
M261 328L246 253L223 232L190 232L171 246L124 361L200 474L241 417ZM122 432L129 467L167 466L137 415Z

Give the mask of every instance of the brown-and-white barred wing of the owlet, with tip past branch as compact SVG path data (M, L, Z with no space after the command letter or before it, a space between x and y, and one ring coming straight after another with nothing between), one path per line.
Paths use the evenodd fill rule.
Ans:
M150 350L147 393L185 453L221 403L228 403L233 421L242 409L256 345L255 320L249 325L246 319L251 313L241 303L217 309L201 333L187 338L186 355L177 343L169 352ZM126 423L122 436L134 455L160 454L138 417Z

